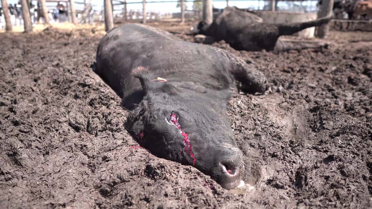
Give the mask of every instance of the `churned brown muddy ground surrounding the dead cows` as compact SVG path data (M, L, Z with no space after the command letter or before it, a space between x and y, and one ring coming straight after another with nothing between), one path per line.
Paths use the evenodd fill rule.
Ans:
M90 68L102 33L1 33L0 208L371 208L371 36L280 54L214 44L270 81L228 102L254 186L228 191L126 133L128 112Z

